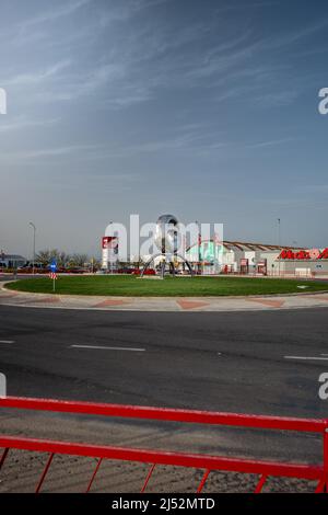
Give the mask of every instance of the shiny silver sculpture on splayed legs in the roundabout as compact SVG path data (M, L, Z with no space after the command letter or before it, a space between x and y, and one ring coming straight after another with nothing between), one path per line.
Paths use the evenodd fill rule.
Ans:
M162 258L161 261L161 275L164 277L166 264L168 264L169 273L175 276L175 261L179 258L188 267L192 277L192 268L190 263L178 253L178 249L181 245L181 234L179 231L179 224L173 215L162 215L156 221L156 231L154 243L159 251L145 263L140 274L143 277L144 272L149 268L150 264L154 262L156 258Z

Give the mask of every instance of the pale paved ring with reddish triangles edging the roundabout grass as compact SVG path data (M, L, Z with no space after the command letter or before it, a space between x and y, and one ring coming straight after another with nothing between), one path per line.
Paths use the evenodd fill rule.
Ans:
M118 311L266 311L328 307L319 294L249 297L95 297L27 294L0 289L0 306Z

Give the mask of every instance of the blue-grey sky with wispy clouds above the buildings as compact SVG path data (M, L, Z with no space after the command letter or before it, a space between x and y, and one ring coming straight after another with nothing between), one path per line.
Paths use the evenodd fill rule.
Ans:
M328 247L328 2L0 0L0 248L171 213Z

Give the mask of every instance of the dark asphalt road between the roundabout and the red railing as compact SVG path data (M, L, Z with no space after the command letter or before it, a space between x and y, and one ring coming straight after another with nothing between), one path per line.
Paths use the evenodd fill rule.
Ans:
M0 371L12 396L327 416L328 358L285 358L328 354L327 314L1 306Z

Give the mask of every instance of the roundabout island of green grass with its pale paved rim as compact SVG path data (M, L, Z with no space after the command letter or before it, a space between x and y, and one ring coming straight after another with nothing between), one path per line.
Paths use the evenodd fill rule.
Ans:
M328 307L327 283L249 277L59 276L2 284L0 305L118 311L258 311Z

